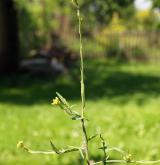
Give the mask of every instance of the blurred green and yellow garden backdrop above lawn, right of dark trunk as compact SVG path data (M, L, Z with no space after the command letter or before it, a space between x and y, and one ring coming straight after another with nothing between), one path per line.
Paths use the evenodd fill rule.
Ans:
M154 0L152 7L145 10L137 10L134 4L134 0L80 0L84 45L88 56L110 53L109 56L112 53L117 56L118 52L128 56L128 59L132 58L129 54L144 56L150 45L150 37L156 41L153 49L149 49L148 59L154 58L152 54L157 56L159 0ZM16 0L16 7L23 57L51 47L56 42L53 41L53 34L57 34L68 49L78 53L76 13L67 0Z

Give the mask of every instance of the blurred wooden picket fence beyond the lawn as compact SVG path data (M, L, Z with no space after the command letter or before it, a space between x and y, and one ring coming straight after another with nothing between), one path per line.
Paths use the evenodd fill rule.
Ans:
M75 34L75 33L72 33ZM68 47L78 53L78 35L70 35L65 41ZM117 57L121 55L128 60L160 61L160 31L123 33L96 33L94 37L83 38L84 51L87 56Z

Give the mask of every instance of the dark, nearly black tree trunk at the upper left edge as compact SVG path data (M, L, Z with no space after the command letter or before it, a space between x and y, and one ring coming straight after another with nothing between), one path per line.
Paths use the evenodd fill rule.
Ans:
M17 70L18 50L18 21L14 2L0 0L0 74Z

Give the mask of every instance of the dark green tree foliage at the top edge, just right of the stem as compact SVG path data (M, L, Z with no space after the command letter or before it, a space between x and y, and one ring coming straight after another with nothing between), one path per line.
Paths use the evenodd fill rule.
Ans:
M81 3L85 16L91 15L99 24L109 23L114 13L127 18L134 11L134 0L82 0Z

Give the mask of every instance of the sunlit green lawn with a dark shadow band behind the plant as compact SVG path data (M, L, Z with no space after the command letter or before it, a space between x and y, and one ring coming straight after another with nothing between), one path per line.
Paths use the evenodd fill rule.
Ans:
M88 131L103 132L108 146L129 150L135 159L160 159L160 66L118 64L105 59L86 60ZM80 125L51 106L55 92L80 105L78 65L57 79L16 75L0 78L0 164L81 164L78 153L59 156L30 155L18 150L24 140L33 149L79 145ZM91 157L102 151L95 139ZM120 158L111 154L110 158Z

